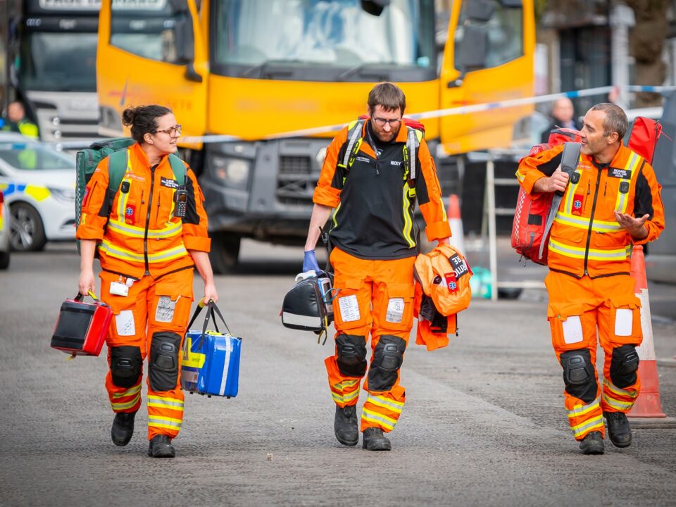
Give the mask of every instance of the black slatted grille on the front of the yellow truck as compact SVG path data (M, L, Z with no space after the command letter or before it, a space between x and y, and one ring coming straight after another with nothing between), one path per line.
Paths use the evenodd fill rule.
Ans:
M318 175L313 175L313 161L308 156L280 156L277 173L277 202L285 206L308 206Z

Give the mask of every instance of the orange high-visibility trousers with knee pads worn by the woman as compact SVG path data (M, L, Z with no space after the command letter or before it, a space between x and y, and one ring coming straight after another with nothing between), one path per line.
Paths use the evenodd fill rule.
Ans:
M183 420L180 351L192 304L192 267L157 280L144 276L127 287L126 296L119 294L125 277L107 271L99 276L101 300L114 315L106 341L106 390L113 412L139 410L147 356L148 439L158 434L173 439Z

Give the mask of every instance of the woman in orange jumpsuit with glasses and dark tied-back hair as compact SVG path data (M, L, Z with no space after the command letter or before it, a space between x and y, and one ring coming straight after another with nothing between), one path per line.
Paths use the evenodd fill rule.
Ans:
M120 188L114 194L108 190L107 157L84 194L77 227L79 288L82 294L95 289L92 263L98 248L101 300L114 314L106 375L115 412L113 443L125 446L132 438L148 356L148 453L171 458L171 439L183 420L180 350L193 300L193 268L204 280L204 300L218 301L208 259L211 240L194 173L178 161L184 167L180 184L170 165L181 134L174 115L163 106L139 106L127 109L123 122L131 125L137 143L127 150Z

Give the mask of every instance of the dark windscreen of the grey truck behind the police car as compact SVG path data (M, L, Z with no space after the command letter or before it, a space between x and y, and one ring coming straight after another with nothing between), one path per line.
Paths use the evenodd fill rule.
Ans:
M96 33L27 32L20 55L23 89L96 92Z

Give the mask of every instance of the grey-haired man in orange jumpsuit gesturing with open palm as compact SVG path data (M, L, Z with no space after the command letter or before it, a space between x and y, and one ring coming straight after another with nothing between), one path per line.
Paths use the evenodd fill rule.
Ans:
M643 337L630 255L633 244L657 239L664 228L661 185L651 165L622 145L625 132L624 111L597 104L584 116L575 173L561 171L563 145L524 158L516 173L531 195L564 192L549 240L547 316L568 421L584 454L605 451L603 417L615 446L632 443L625 414L640 392L636 346Z

